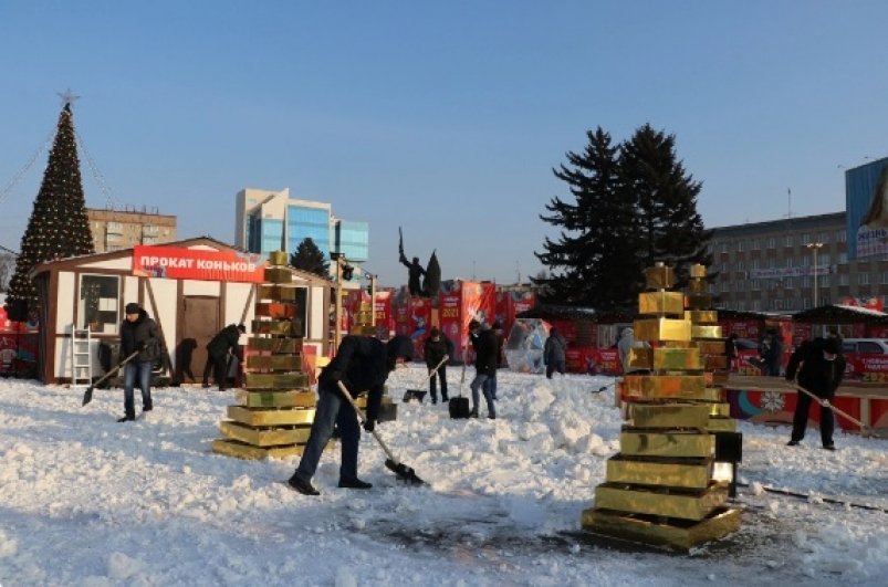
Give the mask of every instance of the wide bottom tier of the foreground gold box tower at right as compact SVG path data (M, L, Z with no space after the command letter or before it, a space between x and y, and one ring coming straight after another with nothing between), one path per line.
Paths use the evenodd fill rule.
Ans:
M583 511L583 530L630 542L690 551L740 530L740 510L717 507L699 522L670 521L589 507ZM671 523L676 522L676 523Z

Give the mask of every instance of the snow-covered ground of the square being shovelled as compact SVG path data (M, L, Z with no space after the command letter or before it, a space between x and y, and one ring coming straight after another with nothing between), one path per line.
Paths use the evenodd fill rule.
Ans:
M81 408L82 390L2 380L0 584L888 584L888 514L817 497L888 507L886 440L839 434L833 453L814 430L792 449L786 427L742 423L742 530L677 555L579 531L619 448L613 387L591 392L610 379L501 371L498 420L451 420L442 405L400 403L422 375L393 374L398 419L378 430L430 486L400 484L365 434L374 489L336 489L336 447L320 497L282 483L296 458L210 451L231 392L158 389L147 418L117 423L119 389Z

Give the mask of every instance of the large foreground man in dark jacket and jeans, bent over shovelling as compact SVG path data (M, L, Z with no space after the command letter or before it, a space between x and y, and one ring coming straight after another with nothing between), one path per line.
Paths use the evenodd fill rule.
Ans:
M388 379L388 374L395 370L398 359L410 360L412 356L414 343L407 336L396 336L388 343L383 343L373 336L348 335L342 339L336 356L317 378L314 421L299 467L288 481L291 488L304 495L321 494L312 485L312 478L317 470L324 447L333 434L334 424L339 431L342 444L339 488L373 486L357 478L361 427L352 403L342 396L339 381L354 398L367 391L367 419L364 429L373 432L383 402L383 384Z

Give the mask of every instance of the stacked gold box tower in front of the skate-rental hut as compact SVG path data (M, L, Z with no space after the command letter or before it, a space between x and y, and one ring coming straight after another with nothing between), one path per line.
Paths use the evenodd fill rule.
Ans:
M286 253L269 256L257 287L255 319L247 347L243 388L212 450L241 459L302 454L315 412L315 394L302 370L302 315Z

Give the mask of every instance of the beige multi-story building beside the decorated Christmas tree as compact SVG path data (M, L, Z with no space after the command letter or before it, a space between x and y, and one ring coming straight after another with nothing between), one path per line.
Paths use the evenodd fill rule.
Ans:
M149 212L145 208L140 211L87 208L86 218L97 253L177 240L176 217Z

